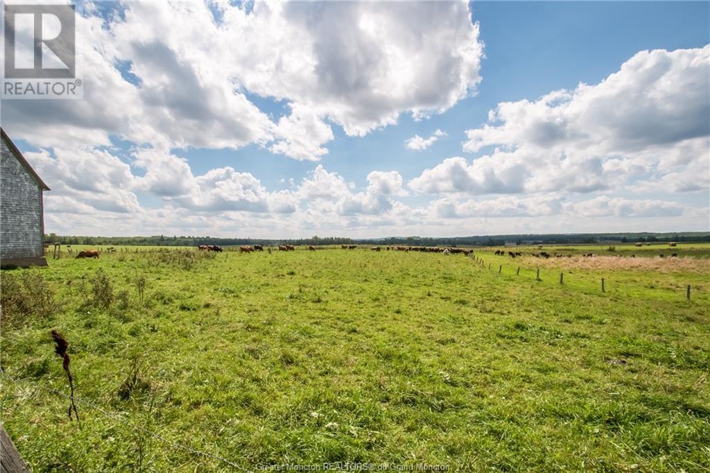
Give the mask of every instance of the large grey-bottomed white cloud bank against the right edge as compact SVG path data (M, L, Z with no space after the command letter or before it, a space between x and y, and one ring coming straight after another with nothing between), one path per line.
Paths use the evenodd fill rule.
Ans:
M642 51L596 85L503 102L464 151L410 182L420 192L594 192L708 188L710 45ZM646 184L643 184L645 181Z

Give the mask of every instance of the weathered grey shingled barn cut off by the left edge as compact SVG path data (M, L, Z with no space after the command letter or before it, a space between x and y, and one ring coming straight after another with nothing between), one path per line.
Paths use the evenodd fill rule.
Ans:
M0 266L46 266L42 192L49 187L0 132Z

